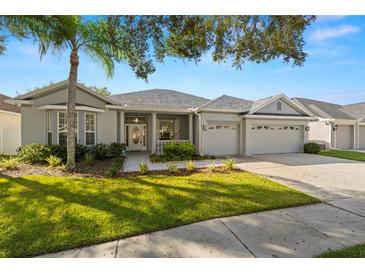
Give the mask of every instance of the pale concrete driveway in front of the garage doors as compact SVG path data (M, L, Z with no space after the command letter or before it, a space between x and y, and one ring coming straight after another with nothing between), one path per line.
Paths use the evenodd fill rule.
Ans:
M244 157L238 166L298 188L325 201L365 197L365 163L296 154Z

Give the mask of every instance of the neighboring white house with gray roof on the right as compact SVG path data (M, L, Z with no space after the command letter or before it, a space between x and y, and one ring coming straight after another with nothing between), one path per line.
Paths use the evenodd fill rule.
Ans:
M310 123L310 141L326 148L365 149L365 102L338 105L306 98L293 101L319 118Z

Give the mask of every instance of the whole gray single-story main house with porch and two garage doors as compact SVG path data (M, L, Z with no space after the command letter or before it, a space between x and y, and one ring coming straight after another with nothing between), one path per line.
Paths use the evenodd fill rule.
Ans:
M81 84L76 94L77 141L124 142L130 151L161 153L165 143L191 142L200 154L300 152L316 119L284 94L209 100L152 89L105 97ZM21 105L23 145L66 143L67 81L8 102Z

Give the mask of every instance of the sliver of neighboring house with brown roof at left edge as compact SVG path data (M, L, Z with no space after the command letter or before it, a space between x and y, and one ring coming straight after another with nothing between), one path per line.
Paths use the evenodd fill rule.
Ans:
M6 103L9 98L0 94L0 155L16 154L20 146L20 108Z

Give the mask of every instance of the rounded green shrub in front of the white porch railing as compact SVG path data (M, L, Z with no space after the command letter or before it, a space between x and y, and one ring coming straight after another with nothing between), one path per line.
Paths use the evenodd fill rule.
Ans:
M192 160L196 152L196 146L191 143L169 143L163 146L164 154L170 160Z

